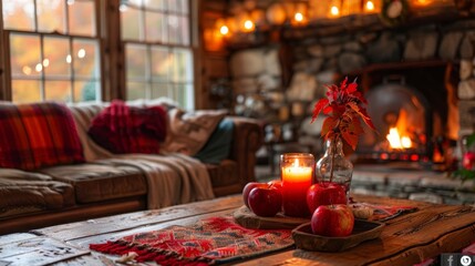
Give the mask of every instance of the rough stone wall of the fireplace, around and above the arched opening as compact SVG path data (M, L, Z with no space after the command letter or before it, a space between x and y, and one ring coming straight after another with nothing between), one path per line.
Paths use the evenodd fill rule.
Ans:
M293 40L285 43L293 55L286 62L291 63L289 85L282 84L281 70L288 65L279 61L279 43L240 50L230 65L236 112L245 114L251 109L254 116L285 122L309 114L311 103L323 95L324 84L333 83L338 74L376 63L442 60L459 65L457 99L452 106L462 119L457 121L455 115L448 123L459 125L459 134L465 135L475 129L474 43L475 20Z

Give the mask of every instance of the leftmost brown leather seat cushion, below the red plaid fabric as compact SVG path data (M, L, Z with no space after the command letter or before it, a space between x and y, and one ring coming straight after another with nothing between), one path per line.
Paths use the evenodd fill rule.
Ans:
M0 168L0 217L74 205L73 186L51 176Z

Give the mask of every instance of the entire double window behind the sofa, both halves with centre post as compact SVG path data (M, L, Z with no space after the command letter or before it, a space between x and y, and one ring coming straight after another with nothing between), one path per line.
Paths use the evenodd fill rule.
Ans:
M125 92L126 100L167 96L194 109L189 0L0 1L2 100L101 101ZM109 16L110 7L120 17ZM124 49L106 52L115 31ZM123 75L118 63L107 63L117 58L125 61ZM124 91L104 88L111 80Z

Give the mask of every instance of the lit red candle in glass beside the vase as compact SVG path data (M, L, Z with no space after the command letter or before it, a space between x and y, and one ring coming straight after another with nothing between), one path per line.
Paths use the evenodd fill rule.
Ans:
M280 156L282 211L287 216L308 217L307 190L313 180L314 157L309 153L286 153Z

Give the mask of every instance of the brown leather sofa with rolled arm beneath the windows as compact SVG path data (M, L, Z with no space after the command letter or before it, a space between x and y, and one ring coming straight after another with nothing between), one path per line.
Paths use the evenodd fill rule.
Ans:
M89 113L90 119L100 110ZM218 164L205 164L215 197L240 193L255 181L256 151L264 140L257 121L226 119L234 123L229 155ZM85 141L91 142L82 139L83 146ZM0 168L0 235L146 209L147 194L162 192L151 192L143 170L114 157L33 171Z

